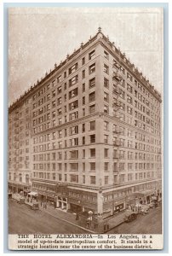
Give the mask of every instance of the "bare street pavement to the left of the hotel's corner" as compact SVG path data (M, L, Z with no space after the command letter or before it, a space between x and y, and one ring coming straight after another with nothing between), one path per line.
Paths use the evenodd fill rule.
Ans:
M9 200L9 234L84 234L81 228ZM88 233L88 232L87 232Z

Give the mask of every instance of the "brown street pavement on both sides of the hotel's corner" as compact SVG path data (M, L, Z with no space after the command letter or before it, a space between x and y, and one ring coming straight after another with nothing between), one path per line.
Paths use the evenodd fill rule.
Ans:
M57 217L49 212L33 211L26 205L9 200L9 234L84 234L89 233L76 225L67 223L66 213L59 212ZM146 215L139 214L129 223L123 223L109 230L109 234L161 234L162 207L150 209ZM66 216L66 220L70 221ZM79 224L77 222L77 224Z

